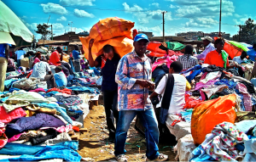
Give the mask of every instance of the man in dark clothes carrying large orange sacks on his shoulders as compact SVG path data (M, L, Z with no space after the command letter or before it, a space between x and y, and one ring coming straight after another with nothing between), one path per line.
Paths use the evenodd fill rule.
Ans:
M110 45L103 47L103 54L93 60L91 55L91 47L94 39L89 42L89 64L90 67L102 68L102 94L104 99L104 107L106 112L106 120L109 131L108 140L114 141L116 128L114 126L114 118L117 123L119 112L117 109L118 102L118 84L115 82L115 73L119 64L119 54L114 53L114 49Z

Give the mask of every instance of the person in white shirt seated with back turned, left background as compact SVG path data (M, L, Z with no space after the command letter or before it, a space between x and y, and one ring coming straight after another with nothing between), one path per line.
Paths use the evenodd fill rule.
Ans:
M46 62L47 60L40 61L33 66L32 75L30 77L39 78L40 81L47 82L47 88L57 87L55 83L55 77L51 74L51 70L49 68L49 64ZM48 72L48 75L47 75Z

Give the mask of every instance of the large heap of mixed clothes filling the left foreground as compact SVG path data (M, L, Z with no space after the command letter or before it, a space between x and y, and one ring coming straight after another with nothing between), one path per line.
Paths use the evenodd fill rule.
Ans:
M79 162L79 142L72 136L84 127L90 98L100 91L76 84L38 88L39 82L5 81L9 91L0 93L0 161Z

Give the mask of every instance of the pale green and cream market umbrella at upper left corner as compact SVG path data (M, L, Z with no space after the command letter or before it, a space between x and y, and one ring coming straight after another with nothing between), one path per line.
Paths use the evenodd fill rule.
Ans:
M0 44L31 45L33 34L20 18L0 0Z

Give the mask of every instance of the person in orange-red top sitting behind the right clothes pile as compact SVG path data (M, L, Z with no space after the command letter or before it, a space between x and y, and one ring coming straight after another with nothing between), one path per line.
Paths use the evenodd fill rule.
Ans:
M224 40L221 38L218 38L214 42L214 47L216 47L216 50L207 53L207 57L205 59L204 64L215 64L218 67L224 68L224 64L226 64L226 69L234 68L235 65L229 64L229 59L227 58L225 61L222 56L222 50L224 47Z

